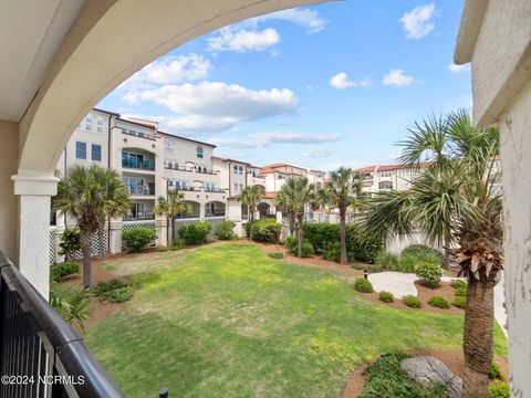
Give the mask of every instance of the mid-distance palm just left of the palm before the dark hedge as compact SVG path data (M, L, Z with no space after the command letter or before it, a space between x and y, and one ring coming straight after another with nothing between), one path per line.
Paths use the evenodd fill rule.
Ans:
M296 226L298 255L302 255L304 212L309 207L316 205L316 190L306 177L289 178L279 192L281 205L288 213L294 216Z

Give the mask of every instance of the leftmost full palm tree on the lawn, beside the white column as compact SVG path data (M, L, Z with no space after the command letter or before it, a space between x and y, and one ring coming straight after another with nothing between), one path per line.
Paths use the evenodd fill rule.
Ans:
M102 181L103 175L108 179ZM114 191L112 197L107 191L111 186ZM105 174L96 165L90 167L75 165L59 182L58 195L53 198L52 206L55 210L76 219L83 252L83 285L90 287L92 237L97 232L102 218L105 220L108 213L125 214L128 207L125 187L115 172Z

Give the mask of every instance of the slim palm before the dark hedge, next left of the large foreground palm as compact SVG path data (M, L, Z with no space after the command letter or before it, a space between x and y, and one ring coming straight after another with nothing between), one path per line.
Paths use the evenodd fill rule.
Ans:
M354 205L361 192L360 177L352 169L340 167L330 174L321 197L332 207L340 210L341 263L346 264L346 209Z

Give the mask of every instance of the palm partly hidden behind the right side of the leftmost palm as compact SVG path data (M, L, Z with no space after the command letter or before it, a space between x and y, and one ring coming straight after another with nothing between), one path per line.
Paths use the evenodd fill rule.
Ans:
M97 239L100 259L105 260L105 219L107 217L119 217L127 213L131 202L124 185L116 170L108 168L94 168L95 180L101 185L101 203L97 206L98 227Z

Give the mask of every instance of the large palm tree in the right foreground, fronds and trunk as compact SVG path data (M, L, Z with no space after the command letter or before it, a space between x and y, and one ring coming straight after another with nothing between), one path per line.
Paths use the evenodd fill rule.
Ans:
M378 193L364 221L378 235L424 232L451 244L468 280L462 397L489 397L493 349L493 287L502 272L501 197L497 191L499 133L473 127L465 111L412 128L402 161L431 165L407 191Z

